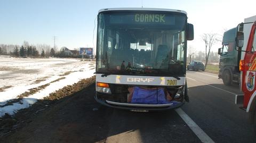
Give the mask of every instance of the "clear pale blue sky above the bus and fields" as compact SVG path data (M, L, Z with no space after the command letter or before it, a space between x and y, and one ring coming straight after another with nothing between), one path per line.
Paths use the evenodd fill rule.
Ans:
M58 48L94 47L97 29L93 44L94 20L100 9L143 6L186 11L195 34L188 46L204 51L203 33L223 35L225 29L256 15L255 5L255 0L0 0L0 44L22 45L26 40L29 44L53 47L53 36L56 36ZM216 52L220 47L221 43L212 49Z

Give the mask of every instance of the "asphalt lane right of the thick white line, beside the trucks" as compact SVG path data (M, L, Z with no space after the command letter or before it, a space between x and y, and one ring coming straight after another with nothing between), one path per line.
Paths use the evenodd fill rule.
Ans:
M187 72L190 103L182 106L193 121L215 142L256 142L245 111L235 105L238 85L225 86L217 74Z

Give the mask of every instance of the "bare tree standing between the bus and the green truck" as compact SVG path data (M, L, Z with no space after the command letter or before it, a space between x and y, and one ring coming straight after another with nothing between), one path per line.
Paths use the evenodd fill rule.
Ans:
M211 52L212 45L218 43L220 40L217 33L204 33L201 36L205 44L205 68L208 63L209 54Z

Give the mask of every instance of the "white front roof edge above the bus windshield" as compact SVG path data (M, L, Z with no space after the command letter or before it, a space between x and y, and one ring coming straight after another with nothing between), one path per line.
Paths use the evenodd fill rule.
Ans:
M164 11L164 12L180 12L187 15L187 12L181 10L172 10L172 9L156 9L156 8L111 8L111 9L101 9L103 11Z

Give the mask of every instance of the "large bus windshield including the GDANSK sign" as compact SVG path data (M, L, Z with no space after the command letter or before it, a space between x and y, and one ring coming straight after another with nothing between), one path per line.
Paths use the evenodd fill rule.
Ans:
M100 13L97 72L185 74L186 22L171 12Z

